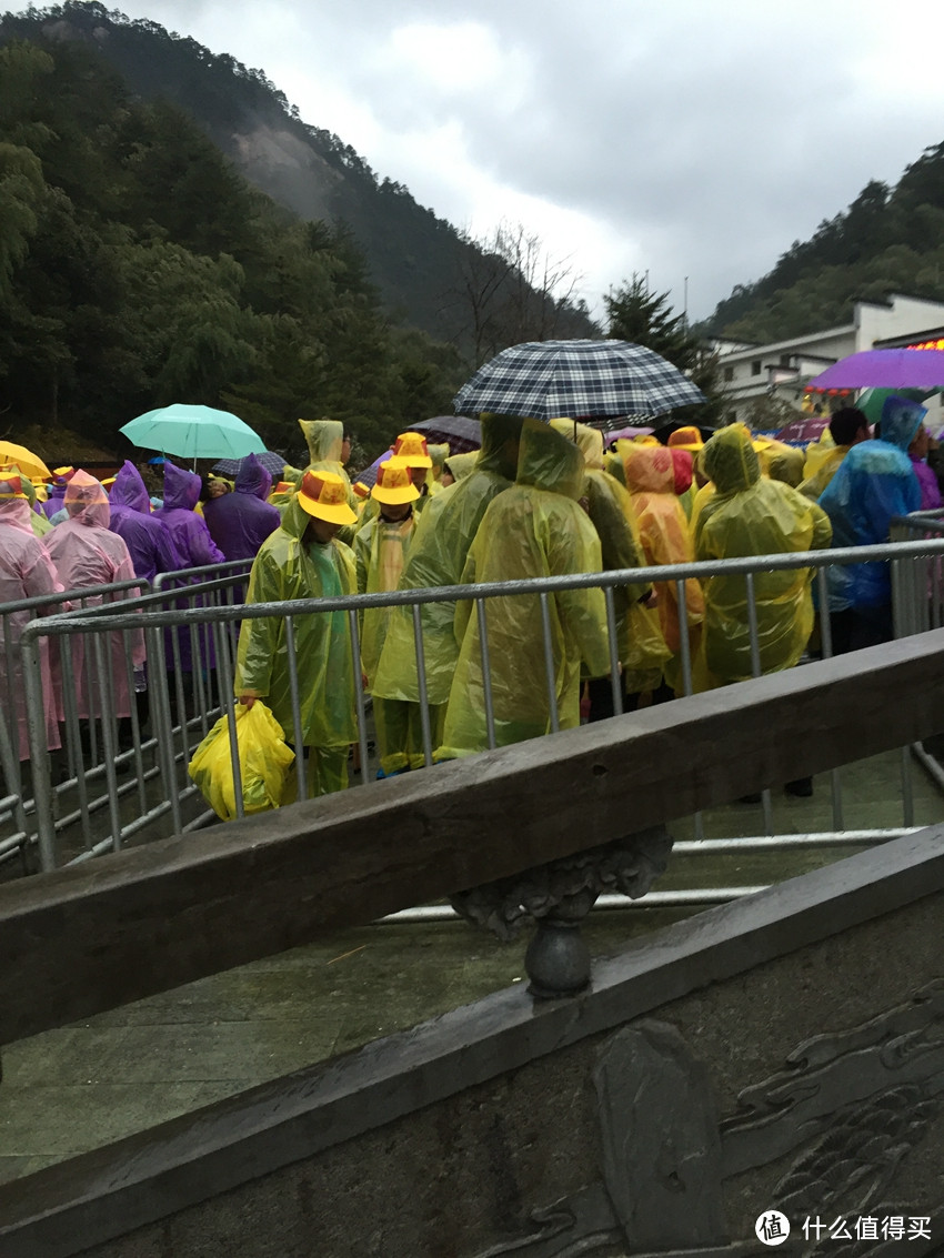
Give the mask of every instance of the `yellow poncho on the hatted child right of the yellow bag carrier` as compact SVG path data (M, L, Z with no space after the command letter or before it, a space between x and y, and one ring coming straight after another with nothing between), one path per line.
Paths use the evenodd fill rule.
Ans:
M360 530L354 538L359 594L389 591L399 586L415 522L417 517L412 512L400 521L388 521L378 515ZM376 667L394 610L369 608L360 616L360 658L369 691L374 688ZM420 713L419 703L404 703L374 694L374 728L384 776L423 765L425 757Z

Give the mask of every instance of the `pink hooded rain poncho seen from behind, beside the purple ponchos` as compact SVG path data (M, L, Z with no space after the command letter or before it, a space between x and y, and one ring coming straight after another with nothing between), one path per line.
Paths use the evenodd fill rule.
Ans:
M69 518L57 525L49 535L48 550L67 590L87 590L83 604L101 606L104 600L101 586L118 581L133 581L135 567L128 548L117 533L108 530L111 511L108 496L93 476L77 472L65 489L65 509ZM133 590L110 595L108 601L133 598ZM142 629L133 629L126 638L121 633L107 635L104 664L110 668L106 679L99 678L92 643L84 634L60 639L60 648L70 644L72 673L78 716L83 720L102 715L102 688L108 711L116 716L131 716L131 688L128 663L140 668L145 662L145 637ZM87 649L88 648L88 649ZM62 660L54 653L53 669L62 669ZM62 673L60 673L62 677Z

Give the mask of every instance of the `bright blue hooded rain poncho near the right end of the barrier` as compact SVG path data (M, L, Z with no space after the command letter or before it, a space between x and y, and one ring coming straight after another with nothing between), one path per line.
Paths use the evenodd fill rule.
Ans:
M889 406L889 403L899 405ZM907 447L921 425L924 408L887 398L881 438L853 445L823 491L819 506L832 522L833 546L876 546L889 540L892 516L921 504L921 487ZM877 608L891 601L889 565L847 564L828 574L829 610Z

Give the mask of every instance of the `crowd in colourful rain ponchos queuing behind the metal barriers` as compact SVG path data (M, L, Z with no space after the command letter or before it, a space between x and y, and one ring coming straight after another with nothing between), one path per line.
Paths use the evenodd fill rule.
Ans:
M573 419L486 414L471 454L400 434L370 489L351 483L350 442L327 419L301 421L308 463L286 467L274 487L254 455L233 483L167 460L155 498L126 462L110 486L59 468L39 501L44 487L38 497L11 467L0 470L0 603L82 591L88 604L102 586L224 560L253 561L247 603L282 603L881 542L894 516L940 506L924 415L889 398L872 434L865 415L846 408L804 453L740 424L709 440L680 428L666 444L647 435L607 450L598 429ZM760 571L751 606L743 575L680 582L642 571L612 595L588 584L546 600L491 596L478 610L462 598L422 603L418 624L413 606L370 605L359 616L356 663L344 610L296 616L292 659L284 618L248 619L234 689L242 703L268 704L305 755L310 794L327 794L347 785L357 741L355 667L373 698L385 777L425 764L424 728L434 759L448 760L612 716L614 691L633 711L790 668L816 650L817 610L821 621L828 616L833 652L891 638L886 564L833 565L828 590L828 608L814 609L808 567ZM15 645L29 616L4 618L10 696L23 694ZM99 717L82 638L62 640L78 717ZM189 643L180 635L184 671L193 667ZM127 721L137 696L146 721L142 634L112 635L108 649L113 715ZM63 660L44 640L42 667L54 750ZM16 706L25 759L21 698ZM808 794L809 784L788 789Z

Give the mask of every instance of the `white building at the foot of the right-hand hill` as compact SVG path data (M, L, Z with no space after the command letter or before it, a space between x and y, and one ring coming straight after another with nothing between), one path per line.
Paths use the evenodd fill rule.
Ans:
M772 345L715 341L714 347L733 418L745 419L749 404L760 398L777 398L799 410L808 381L850 353L940 338L944 303L892 293L885 302L856 302L852 322L842 327ZM940 399L929 399L926 405L939 408Z

